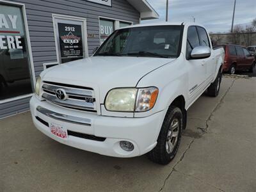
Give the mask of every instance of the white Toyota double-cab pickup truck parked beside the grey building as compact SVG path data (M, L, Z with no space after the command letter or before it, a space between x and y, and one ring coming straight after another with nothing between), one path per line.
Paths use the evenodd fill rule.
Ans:
M187 110L220 90L224 50L204 27L139 24L113 32L90 58L44 70L30 100L33 122L72 147L113 157L148 154L168 164Z

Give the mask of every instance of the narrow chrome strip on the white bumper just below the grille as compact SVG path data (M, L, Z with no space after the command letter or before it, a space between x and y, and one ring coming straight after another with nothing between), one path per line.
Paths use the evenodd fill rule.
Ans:
M54 118L56 120L61 120L61 121L68 122L68 123L80 124L80 125L86 125L86 126L92 125L92 120L90 120L89 118L81 118L81 117L77 117L77 116L56 113L49 109L42 108L41 106L38 106L36 108L36 111L38 111L50 118Z

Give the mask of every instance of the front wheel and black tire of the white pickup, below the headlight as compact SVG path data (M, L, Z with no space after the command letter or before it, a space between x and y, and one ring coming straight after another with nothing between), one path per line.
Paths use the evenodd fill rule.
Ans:
M170 106L164 117L164 122L157 138L157 145L148 152L148 158L158 164L170 163L177 154L181 133L182 111L175 106Z

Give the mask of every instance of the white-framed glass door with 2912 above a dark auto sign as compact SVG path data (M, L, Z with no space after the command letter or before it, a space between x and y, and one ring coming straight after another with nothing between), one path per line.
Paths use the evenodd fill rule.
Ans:
M85 19L54 15L54 33L59 63L79 60L86 57Z

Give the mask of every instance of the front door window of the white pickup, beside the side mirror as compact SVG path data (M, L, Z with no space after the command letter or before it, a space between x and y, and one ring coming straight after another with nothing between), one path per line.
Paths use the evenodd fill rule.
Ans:
M198 34L196 27L191 26L188 28L188 38L187 38L187 47L186 47L186 58L188 59L193 48L200 46Z

